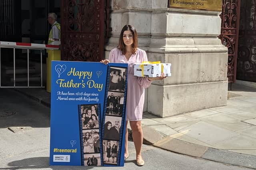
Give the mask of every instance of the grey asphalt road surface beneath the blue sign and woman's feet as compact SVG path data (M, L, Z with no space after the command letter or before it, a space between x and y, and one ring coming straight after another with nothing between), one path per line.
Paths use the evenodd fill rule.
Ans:
M50 109L10 89L0 89L0 170L84 170L102 167L49 166ZM15 113L14 115L11 115ZM10 114L3 117L4 114ZM135 164L135 150L128 143L130 157L124 167L111 170L247 170L143 145L145 166Z

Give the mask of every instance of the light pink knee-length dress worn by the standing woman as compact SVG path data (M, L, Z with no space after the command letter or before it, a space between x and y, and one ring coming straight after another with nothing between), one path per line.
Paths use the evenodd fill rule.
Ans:
M126 99L126 120L140 121L142 120L142 112L144 105L144 88L148 88L151 81L148 77L134 76L133 64L148 61L146 52L138 49L136 54L132 54L127 61L126 57L118 48L114 48L109 54L110 63L128 63L128 86Z

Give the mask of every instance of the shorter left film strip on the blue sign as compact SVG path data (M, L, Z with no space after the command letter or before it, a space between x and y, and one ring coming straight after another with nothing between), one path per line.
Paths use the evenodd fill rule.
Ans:
M78 105L82 166L102 165L100 104Z

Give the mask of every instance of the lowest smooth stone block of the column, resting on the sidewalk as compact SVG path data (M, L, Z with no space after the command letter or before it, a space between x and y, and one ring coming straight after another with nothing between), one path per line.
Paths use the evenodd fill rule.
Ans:
M225 106L228 82L209 82L148 88L148 111L167 117L180 113Z

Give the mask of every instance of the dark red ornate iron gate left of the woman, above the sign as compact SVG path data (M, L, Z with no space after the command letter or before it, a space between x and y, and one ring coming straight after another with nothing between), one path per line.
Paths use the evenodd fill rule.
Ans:
M61 59L103 59L105 0L62 0L61 7Z

